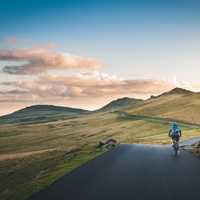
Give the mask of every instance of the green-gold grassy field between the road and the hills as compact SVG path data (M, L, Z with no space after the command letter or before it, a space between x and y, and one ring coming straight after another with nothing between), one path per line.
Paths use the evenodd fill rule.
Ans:
M40 124L0 127L0 199L23 200L104 151L95 146L120 143L169 143L170 120L122 112ZM184 139L200 136L198 125L180 124Z

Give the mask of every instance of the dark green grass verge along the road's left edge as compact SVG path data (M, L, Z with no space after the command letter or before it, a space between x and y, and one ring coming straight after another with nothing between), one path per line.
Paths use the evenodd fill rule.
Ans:
M71 155L58 151L0 162L0 199L25 200L102 153L103 150L84 148Z

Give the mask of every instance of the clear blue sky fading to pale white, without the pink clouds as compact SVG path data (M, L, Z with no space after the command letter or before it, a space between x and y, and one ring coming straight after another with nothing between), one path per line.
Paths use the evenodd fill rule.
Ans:
M0 0L0 49L53 43L56 52L102 61L99 73L161 79L197 90L199 10L200 2L194 0ZM11 60L0 60L1 69L5 62ZM27 79L6 73L0 77Z

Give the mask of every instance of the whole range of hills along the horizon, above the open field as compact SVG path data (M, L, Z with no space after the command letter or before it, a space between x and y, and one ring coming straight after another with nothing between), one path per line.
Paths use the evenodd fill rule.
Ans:
M114 111L200 123L200 93L174 88L147 100L119 98L95 111L53 105L34 105L0 117L0 124L42 123Z

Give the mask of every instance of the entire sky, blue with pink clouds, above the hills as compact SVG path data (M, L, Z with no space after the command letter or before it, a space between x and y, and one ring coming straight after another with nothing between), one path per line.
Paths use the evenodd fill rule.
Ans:
M0 115L200 91L200 2L0 0Z

